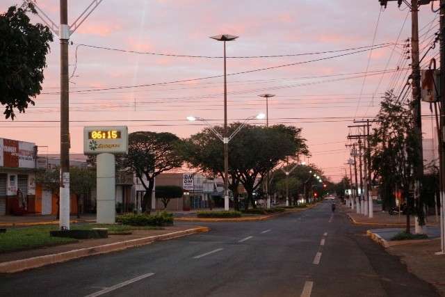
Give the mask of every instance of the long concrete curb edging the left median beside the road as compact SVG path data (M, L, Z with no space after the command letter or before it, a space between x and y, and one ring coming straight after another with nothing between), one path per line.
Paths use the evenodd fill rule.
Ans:
M127 248L134 248L138 246L145 246L154 241L163 241L168 239L175 239L177 237L186 236L190 234L208 232L209 227L196 227L184 231L177 231L168 234L148 236L140 239L131 239L129 241L120 241L116 243L109 243L103 246L93 246L91 248L81 248L79 250L70 250L68 252L59 252L53 255L44 255L40 257L32 257L28 259L20 259L10 262L0 263L0 273L15 273L19 271L28 270L31 268L38 268L49 264L56 264L60 262L67 262L72 259L79 259L81 257L88 257L92 255L101 255L108 252L117 252Z

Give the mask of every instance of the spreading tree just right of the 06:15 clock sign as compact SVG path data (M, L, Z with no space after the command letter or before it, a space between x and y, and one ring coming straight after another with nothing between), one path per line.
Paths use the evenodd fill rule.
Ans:
M154 179L162 172L179 168L182 159L177 152L179 138L168 132L138 131L129 134L128 154L118 157L118 166L136 173L145 188L142 211L150 212Z

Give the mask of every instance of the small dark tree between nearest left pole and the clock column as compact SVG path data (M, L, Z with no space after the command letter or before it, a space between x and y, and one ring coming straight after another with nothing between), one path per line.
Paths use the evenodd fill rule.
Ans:
M70 190L76 194L77 198L77 218L80 218L81 203L85 205L85 198L88 197L92 189L96 188L96 170L93 168L70 168Z

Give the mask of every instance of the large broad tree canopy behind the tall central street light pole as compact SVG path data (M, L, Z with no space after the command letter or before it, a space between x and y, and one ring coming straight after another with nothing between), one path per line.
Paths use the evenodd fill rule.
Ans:
M229 125L229 134L241 125ZM219 133L221 127L214 127ZM277 125L259 127L246 125L229 143L229 184L236 192L243 184L248 193L248 202L254 205L253 192L261 184L266 172L272 170L286 156L307 153L301 129ZM184 142L181 150L184 159L204 172L223 176L223 142L211 131L204 129ZM235 193L234 193L235 194Z

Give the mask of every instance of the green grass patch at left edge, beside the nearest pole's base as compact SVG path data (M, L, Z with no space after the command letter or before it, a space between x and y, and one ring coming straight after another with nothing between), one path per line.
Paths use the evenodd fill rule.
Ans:
M36 226L26 228L10 228L6 233L0 233L0 253L16 250L30 250L44 246L58 246L60 244L76 242L76 239L49 236L50 230L57 230L55 226Z

